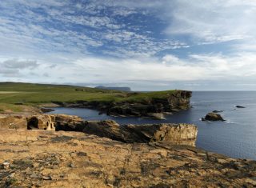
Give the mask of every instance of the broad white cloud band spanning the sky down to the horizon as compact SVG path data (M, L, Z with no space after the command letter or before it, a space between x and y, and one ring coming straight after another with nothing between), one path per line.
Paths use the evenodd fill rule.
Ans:
M33 74L33 62L25 62L27 67L16 65L16 68L0 70L9 78L8 81L19 82L55 82L70 84L110 84L134 86L137 90L162 90L208 88L219 86L234 88L239 84L252 86L256 82L256 55L254 53L237 54L228 57L222 54L191 54L190 58L182 59L168 54L158 58L95 58L84 57L74 59L68 64L50 64L38 60ZM6 62L6 61L3 61ZM3 65L2 62L2 65ZM165 63L162 63L165 62ZM32 63L30 65L30 63ZM1 63L0 63L1 64ZM4 67L2 66L1 67ZM17 75L17 76L15 76ZM140 86L139 86L140 85ZM214 86L213 86L214 85ZM154 86L154 88L153 88ZM172 86L172 87L170 87ZM226 87L225 87L226 86Z

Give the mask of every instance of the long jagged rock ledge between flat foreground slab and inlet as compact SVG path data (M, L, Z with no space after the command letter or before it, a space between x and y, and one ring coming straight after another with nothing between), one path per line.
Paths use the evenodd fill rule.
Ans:
M5 123L7 126L3 126ZM78 116L64 114L38 114L26 117L8 115L0 118L0 128L77 131L126 143L168 142L174 145L188 146L195 146L198 133L196 126L188 124L162 123L120 126L111 120L84 121Z

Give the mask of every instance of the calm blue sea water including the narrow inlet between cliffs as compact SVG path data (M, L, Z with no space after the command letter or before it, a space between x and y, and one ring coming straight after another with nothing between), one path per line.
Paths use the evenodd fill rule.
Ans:
M86 120L113 119L120 124L186 122L198 126L199 148L233 158L256 159L256 92L255 91L198 91L193 92L190 110L166 116L166 120L150 118L115 118L98 114L96 110L55 108L52 114L78 115ZM245 106L238 109L235 106ZM227 122L202 122L200 119L213 110L223 110Z

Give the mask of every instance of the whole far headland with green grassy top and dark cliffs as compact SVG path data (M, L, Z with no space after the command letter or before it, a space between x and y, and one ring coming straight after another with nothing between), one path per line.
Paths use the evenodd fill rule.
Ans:
M0 112L24 112L31 104L38 108L54 104L91 108L113 116L164 118L165 113L188 109L192 94L186 90L126 92L15 82L0 82L0 86Z

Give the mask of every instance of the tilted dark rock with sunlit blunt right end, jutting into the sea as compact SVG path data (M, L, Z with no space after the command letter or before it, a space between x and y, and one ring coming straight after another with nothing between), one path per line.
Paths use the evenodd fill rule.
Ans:
M114 121L87 122L82 130L86 134L111 138L121 142L169 142L194 146L198 129L188 124L118 125Z

